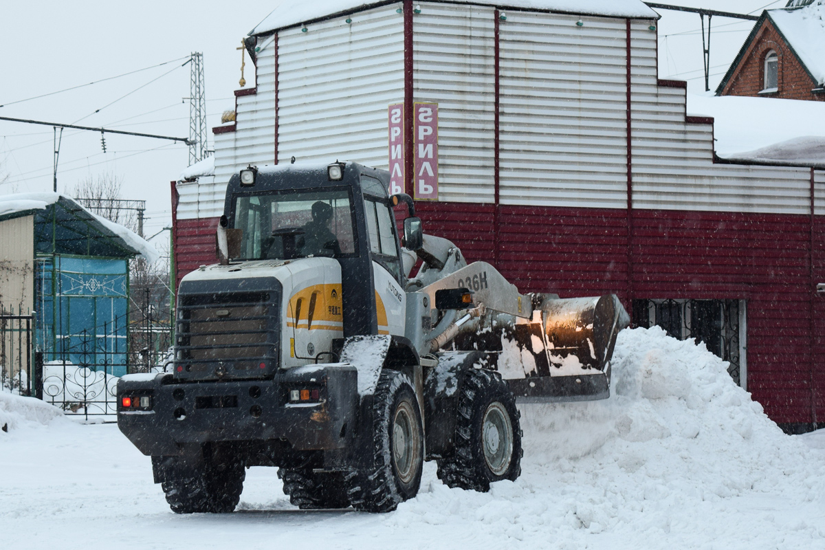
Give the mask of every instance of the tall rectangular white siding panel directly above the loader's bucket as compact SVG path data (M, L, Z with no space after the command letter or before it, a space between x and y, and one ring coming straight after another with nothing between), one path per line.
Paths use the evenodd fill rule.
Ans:
M626 208L625 21L507 12L502 204Z

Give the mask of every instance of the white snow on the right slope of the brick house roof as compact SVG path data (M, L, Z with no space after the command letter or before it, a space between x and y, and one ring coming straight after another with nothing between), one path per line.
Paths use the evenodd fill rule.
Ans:
M771 21L785 36L819 86L825 86L825 2L794 10L771 10Z

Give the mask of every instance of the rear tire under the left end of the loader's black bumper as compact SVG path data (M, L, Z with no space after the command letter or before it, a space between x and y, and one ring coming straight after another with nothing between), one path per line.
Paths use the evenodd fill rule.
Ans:
M227 514L240 501L246 477L240 460L216 462L206 458L194 466L177 457L155 457L152 464L166 501L176 514Z

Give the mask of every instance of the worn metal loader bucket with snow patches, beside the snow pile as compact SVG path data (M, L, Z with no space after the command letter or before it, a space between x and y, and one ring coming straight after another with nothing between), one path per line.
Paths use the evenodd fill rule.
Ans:
M516 394L528 401L580 401L610 397L610 359L616 336L629 316L614 294L593 298L534 297L533 318L516 320L512 350L502 340L498 369ZM506 338L506 336L502 336ZM503 359L503 361L502 361Z

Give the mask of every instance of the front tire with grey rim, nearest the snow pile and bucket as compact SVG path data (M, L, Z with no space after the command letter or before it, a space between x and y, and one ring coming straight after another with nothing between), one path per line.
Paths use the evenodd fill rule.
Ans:
M448 487L487 492L491 482L521 475L521 414L498 373L467 369L455 418L455 452L438 460Z

